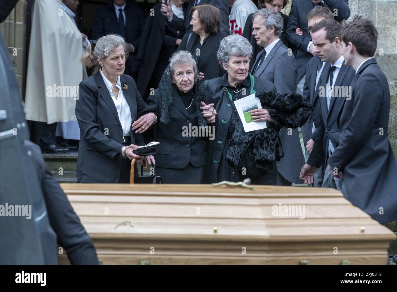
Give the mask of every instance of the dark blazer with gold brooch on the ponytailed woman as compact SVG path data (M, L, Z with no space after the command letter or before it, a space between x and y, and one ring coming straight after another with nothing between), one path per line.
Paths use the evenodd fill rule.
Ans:
M127 90L122 90L134 121L146 103L132 77L123 74L120 81L122 87L123 84L128 86ZM81 81L76 118L80 127L77 182L117 183L123 159L119 153L123 146L123 129L100 72ZM145 145L140 134L130 131L130 137L132 144Z

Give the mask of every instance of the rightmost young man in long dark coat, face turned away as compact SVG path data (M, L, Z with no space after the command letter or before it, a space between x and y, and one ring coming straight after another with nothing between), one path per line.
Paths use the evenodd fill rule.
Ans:
M345 65L354 68L355 77L337 116L340 131L328 170L353 205L380 223L391 222L397 220L397 162L387 135L389 85L373 58L378 32L371 21L355 17L340 39ZM311 182L315 169L306 164L301 177Z

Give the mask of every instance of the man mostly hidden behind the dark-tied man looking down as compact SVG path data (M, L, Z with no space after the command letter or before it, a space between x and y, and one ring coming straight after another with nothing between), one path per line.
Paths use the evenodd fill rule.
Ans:
M307 24L309 30L323 19L333 20L333 14L328 8L317 6L307 14ZM297 33L301 33L297 30ZM318 121L321 119L320 99L318 99L318 92L316 91L317 83L320 75L324 69L325 62L322 62L318 55L314 55L306 66L305 80L302 95L310 101L313 106L313 111L307 122L302 126L302 137L305 149L305 159L307 161L310 152L312 151L314 140L317 135ZM316 94L317 92L317 94ZM324 171L320 167L314 175L314 187L320 188L336 188L332 179L324 180Z

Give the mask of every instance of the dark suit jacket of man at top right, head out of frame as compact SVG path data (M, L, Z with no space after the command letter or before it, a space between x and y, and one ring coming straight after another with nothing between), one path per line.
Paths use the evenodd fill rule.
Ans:
M348 19L350 16L350 8L348 0L324 0L325 7L330 8L331 11L337 9L337 15L334 17L337 21ZM314 8L311 0L293 0L291 4L291 12L289 13L289 20L287 25L287 39L289 43L297 48L297 66L298 75L297 82L299 82L305 73L307 62L312 58L312 54L307 51L307 46L312 40L307 26L306 15ZM297 35L295 29L301 28L303 35Z

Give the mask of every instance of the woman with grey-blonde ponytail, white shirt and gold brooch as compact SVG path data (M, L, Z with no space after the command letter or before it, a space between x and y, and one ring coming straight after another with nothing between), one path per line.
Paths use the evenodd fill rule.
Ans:
M106 35L91 41L81 58L87 68L93 68L93 75L80 83L76 101L80 127L77 182L129 183L130 160L144 159L133 150L145 145L141 133L157 117L153 112L140 114L147 105L134 79L123 74L127 56L124 39ZM146 160L154 162L152 156Z

